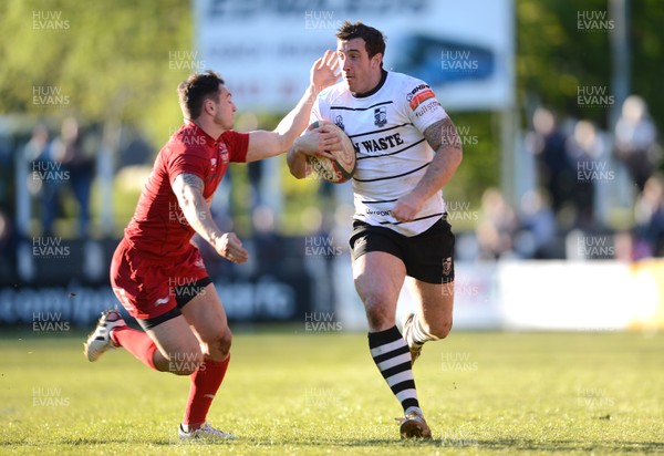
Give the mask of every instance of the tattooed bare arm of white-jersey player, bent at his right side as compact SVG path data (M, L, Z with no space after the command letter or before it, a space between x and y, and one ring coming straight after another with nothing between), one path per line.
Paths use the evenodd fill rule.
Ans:
M415 188L394 204L392 216L400 221L413 220L424 201L447 185L464 158L461 141L452 118L445 117L428 126L424 137L436 155Z

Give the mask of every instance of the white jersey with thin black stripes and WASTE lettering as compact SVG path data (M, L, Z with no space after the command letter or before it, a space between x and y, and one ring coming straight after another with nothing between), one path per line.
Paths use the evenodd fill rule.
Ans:
M333 122L355 145L354 218L405 236L426 231L440 218L443 191L430 197L413 221L400 222L391 210L417 185L434 157L423 132L445 117L432 89L402 73L385 72L377 90L364 96L353 96L345 81L319 94L311 122Z

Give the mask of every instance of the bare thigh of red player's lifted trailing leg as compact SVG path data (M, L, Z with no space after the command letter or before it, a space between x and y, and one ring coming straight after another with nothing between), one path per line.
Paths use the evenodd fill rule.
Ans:
M187 360L195 365L203 361L200 344L183 315L166 320L146 330L146 333L155 342L163 356L160 360L155 360L156 364L173 360Z

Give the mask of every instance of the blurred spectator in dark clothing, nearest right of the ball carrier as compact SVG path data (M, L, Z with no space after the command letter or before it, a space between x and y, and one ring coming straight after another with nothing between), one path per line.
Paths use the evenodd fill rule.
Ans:
M533 132L526 143L536 156L540 185L551 198L554 213L560 210L572 195L574 169L567 157L567 136L559 128L553 113L538 107L532 115Z

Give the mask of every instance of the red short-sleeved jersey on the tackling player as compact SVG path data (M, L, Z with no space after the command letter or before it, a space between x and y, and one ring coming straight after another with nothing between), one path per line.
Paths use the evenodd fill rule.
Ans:
M129 245L151 258L168 259L186 253L193 246L194 228L185 218L170 185L183 173L205 183L209 200L230 162L246 162L249 134L224 132L218 139L188 121L159 151L141 193L136 211L125 228ZM155 258L156 259L156 258Z

